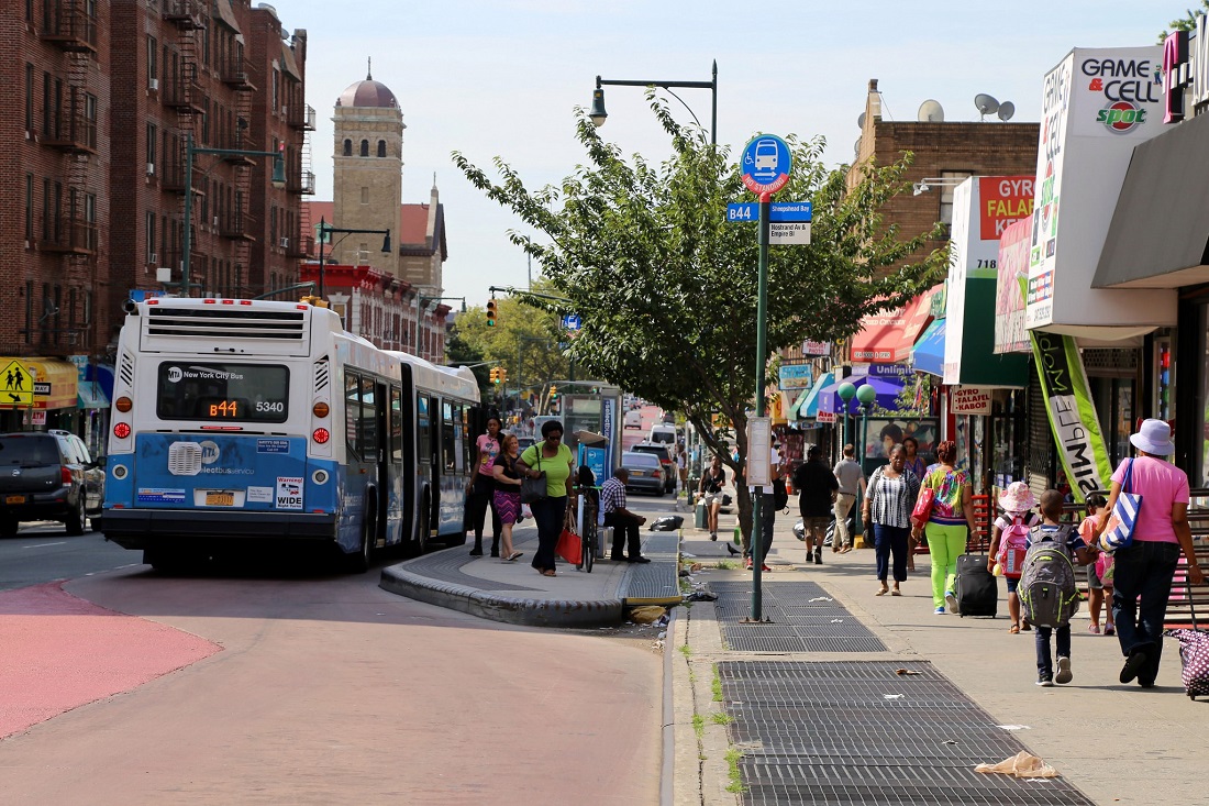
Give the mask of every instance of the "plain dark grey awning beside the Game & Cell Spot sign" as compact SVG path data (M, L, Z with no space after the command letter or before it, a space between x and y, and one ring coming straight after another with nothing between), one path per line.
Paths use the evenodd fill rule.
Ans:
M1179 288L1209 281L1209 115L1133 151L1092 288Z

